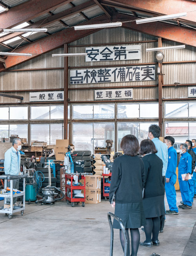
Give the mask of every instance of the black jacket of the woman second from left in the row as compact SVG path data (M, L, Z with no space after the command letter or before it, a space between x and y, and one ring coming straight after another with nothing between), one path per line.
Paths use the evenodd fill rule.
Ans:
M165 194L163 184L163 161L156 154L148 154L142 158L145 167L145 185L143 198L158 197Z

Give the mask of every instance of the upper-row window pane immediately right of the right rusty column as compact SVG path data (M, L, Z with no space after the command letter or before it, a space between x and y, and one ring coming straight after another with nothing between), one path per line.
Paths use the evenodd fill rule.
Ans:
M165 103L165 118L188 117L188 103Z

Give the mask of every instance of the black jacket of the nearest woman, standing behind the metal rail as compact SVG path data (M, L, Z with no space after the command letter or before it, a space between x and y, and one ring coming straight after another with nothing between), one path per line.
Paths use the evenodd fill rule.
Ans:
M119 204L142 201L145 169L139 156L122 155L114 160L109 192L109 201L115 194Z

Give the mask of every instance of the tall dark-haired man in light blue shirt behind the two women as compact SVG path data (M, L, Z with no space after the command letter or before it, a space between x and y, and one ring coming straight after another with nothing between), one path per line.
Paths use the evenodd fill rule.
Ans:
M160 141L159 137L161 135L161 128L157 124L151 124L148 130L148 137L154 142L156 150L158 151L156 155L163 161L163 184L165 186L165 174L167 171L167 163L168 163L168 152L167 145ZM160 232L163 232L163 227L165 224L165 215L160 216Z

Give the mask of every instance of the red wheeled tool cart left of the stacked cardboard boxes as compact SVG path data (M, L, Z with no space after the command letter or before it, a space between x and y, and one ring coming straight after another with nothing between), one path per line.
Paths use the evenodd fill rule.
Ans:
M74 182L74 176L75 174L65 174L65 198L67 200L67 204L69 204L69 202L71 202L71 206L74 207L74 202L77 202L77 204L79 202L82 202L82 207L85 206L85 175L81 174L81 180L84 180L84 185L83 186L74 186L73 182ZM71 185L67 184L67 181L71 182ZM71 193L71 197L67 196L67 189L69 189L69 192ZM73 190L76 189L82 189L84 191L84 198L73 198Z

